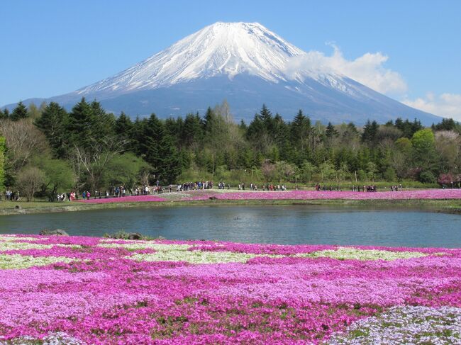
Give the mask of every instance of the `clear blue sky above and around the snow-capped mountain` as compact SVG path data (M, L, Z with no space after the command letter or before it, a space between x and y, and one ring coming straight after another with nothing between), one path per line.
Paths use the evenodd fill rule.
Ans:
M74 91L216 21L257 21L378 91L461 119L461 1L16 0L1 13L0 105Z

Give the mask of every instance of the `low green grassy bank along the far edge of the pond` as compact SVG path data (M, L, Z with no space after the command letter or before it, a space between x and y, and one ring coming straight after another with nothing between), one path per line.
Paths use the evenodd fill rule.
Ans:
M159 208L183 206L235 206L235 205L331 205L370 208L425 208L434 212L461 214L461 200L187 200L162 202L120 202L105 204L50 203L46 201L11 202L0 201L0 215L21 215L32 213L75 212L113 208Z

